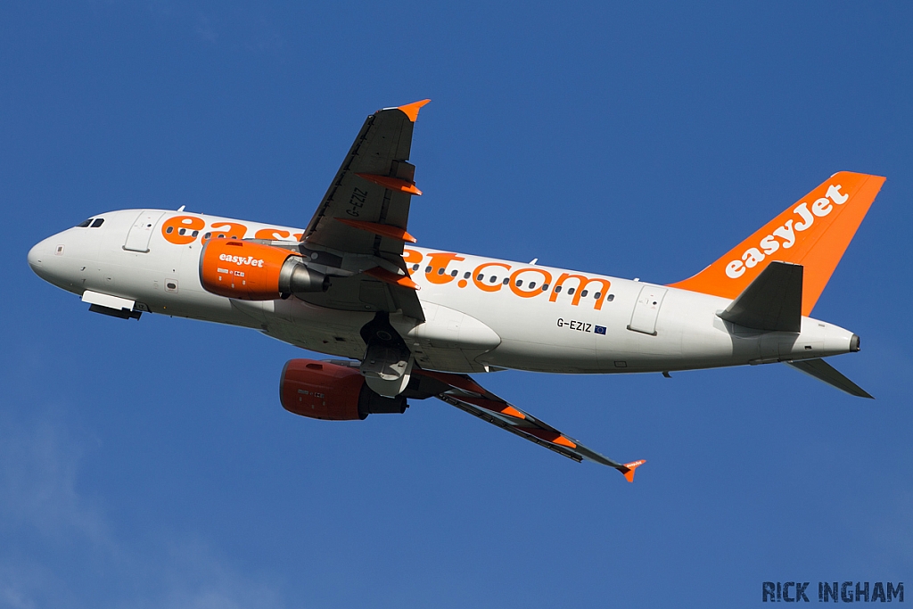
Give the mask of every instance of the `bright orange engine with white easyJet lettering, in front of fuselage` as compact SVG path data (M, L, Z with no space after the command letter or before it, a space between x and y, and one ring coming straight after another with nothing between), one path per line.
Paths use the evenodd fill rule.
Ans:
M209 239L200 254L203 288L231 299L273 300L326 291L330 278L296 252L237 239Z

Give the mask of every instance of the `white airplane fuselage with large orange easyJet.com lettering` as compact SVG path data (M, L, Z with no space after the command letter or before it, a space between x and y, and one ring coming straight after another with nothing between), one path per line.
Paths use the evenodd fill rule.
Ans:
M195 236L176 239L189 243L166 235L163 226L175 216L200 226ZM359 331L373 312L295 297L227 299L201 286L206 235L297 241L300 229L162 210L94 218L104 222L37 244L28 254L37 275L79 295L89 290L134 300L136 310L246 326L310 351L362 358ZM665 372L851 351L852 332L832 324L803 317L798 335L750 331L718 317L729 299L683 289L422 247L406 247L404 259L421 288L426 320L395 313L390 320L429 370Z

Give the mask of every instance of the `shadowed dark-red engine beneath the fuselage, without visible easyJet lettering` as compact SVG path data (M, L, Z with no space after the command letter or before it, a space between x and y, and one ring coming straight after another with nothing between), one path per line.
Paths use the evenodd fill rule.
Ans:
M279 400L290 413L328 421L403 414L409 407L402 395L375 394L357 368L315 360L286 362L279 380Z

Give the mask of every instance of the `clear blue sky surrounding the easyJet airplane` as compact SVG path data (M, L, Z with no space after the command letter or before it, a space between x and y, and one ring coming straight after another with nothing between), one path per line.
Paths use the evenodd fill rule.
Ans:
M908 3L7 2L0 607L761 604L913 582ZM667 283L841 171L887 184L786 366L504 372L633 485L438 402L328 424L253 331L90 314L28 248L120 208L302 226L364 117L415 128L419 245ZM908 591L909 592L909 591ZM814 598L813 598L814 602Z

